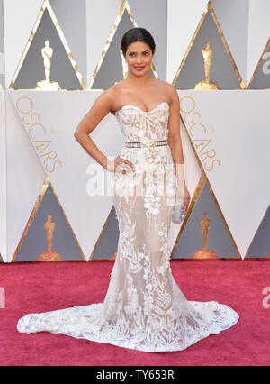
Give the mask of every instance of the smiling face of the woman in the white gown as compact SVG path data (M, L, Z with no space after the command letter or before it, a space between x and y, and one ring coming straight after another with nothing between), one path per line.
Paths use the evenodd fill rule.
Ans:
M134 41L128 46L125 59L130 72L136 77L142 77L151 68L153 56L146 42Z

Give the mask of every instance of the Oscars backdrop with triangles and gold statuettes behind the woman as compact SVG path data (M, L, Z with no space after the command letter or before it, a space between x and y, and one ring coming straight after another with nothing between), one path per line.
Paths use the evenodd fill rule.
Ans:
M192 200L172 258L270 258L269 14L269 0L0 0L1 262L115 258L109 172L74 132L125 78L133 26L180 99ZM112 114L91 138L111 160L124 145Z

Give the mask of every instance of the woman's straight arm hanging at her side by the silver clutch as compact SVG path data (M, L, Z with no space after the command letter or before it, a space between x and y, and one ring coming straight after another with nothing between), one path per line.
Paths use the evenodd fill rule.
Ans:
M168 120L168 143L172 151L175 163L175 173L178 181L176 197L184 198L184 212L190 201L189 192L185 186L184 179L184 154L180 135L180 101L174 86L169 85L171 96L170 115Z

